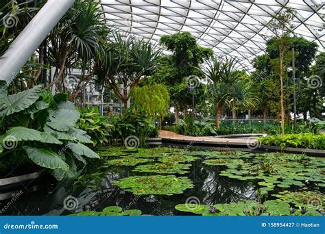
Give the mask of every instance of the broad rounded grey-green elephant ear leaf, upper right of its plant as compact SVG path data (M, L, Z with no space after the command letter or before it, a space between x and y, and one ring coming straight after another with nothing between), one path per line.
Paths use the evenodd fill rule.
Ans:
M68 131L75 126L80 114L73 109L57 109L49 113L47 125L56 131Z

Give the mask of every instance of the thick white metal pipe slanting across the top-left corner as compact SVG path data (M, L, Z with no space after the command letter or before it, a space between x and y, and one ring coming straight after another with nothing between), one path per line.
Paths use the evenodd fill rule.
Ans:
M48 0L0 57L0 80L10 83L75 0Z

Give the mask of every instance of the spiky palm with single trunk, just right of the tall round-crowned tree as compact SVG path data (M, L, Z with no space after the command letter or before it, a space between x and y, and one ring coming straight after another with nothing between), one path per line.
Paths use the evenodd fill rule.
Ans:
M222 63L217 57L214 57L208 62L208 68L206 69L206 77L213 81L208 87L208 92L211 101L215 103L215 122L218 129L220 127L222 109L225 105L230 104L231 101L230 87L239 77L238 73L232 72L234 70L234 65L234 59L226 59L226 62Z

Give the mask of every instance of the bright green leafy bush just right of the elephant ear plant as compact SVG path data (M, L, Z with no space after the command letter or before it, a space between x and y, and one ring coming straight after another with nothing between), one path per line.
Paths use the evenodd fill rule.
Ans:
M77 120L77 127L91 136L93 146L101 146L108 143L108 137L112 134L112 125L108 119L101 116L98 107L86 107L80 109L80 118Z

